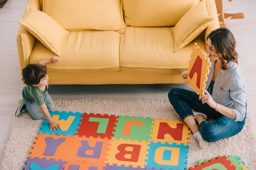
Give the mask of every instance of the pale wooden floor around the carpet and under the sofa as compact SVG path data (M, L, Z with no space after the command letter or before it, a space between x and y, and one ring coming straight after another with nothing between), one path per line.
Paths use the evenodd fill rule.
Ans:
M256 122L255 64L256 64L256 1L224 1L229 13L244 12L243 20L229 20L227 27L237 41L239 65L244 73L247 86L246 95L250 112ZM0 9L0 157L12 125L17 102L22 99L23 84L20 80L16 34L26 0L9 0ZM53 99L167 99L173 87L191 89L189 85L52 85L49 94ZM256 130L256 126L254 125ZM26 133L26 132L24 132Z

